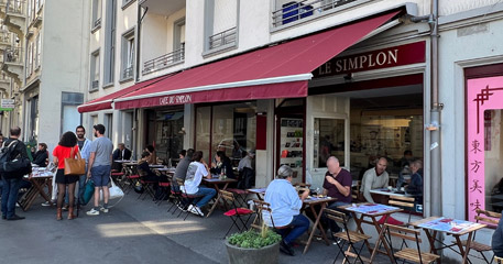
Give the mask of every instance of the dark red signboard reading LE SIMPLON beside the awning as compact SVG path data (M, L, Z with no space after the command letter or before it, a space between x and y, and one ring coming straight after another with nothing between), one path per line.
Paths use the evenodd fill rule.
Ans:
M416 42L394 46L370 53L361 53L345 57L335 57L319 66L315 77L333 76L363 70L396 67L425 62L425 42Z

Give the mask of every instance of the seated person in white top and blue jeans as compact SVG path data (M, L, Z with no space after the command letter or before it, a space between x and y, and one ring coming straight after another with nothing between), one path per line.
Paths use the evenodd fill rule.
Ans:
M211 178L211 175L209 174L208 165L203 161L203 152L198 151L194 153L193 162L188 165L184 187L187 195L198 197L195 200L196 206L190 205L188 211L200 217L205 216L201 207L206 206L217 194L212 188L200 186L203 177Z

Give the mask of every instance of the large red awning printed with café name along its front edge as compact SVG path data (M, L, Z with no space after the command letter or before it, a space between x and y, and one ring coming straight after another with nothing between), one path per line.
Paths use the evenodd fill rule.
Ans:
M307 97L311 72L400 11L184 70L117 98L116 109Z

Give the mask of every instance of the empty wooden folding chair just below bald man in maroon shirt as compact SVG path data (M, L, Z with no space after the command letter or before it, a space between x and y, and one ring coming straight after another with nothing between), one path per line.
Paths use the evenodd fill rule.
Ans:
M365 243L363 242L371 239L372 237L349 230L348 216L346 216L346 213L343 212L325 208L322 213L325 213L325 216L328 219L336 221L337 223L341 223L343 226L342 231L333 234L333 237L339 238L342 241L341 243L336 243L339 248L339 252L337 253L333 263L337 262L337 258L339 258L340 253L343 254L345 262L348 263L351 263L349 257L354 258L353 263L357 263L357 261L360 261L361 263L370 262L368 257L361 256L361 251L363 250L363 245L365 245ZM360 242L362 242L361 246L357 248L356 244ZM347 249L345 249L346 244L348 244Z

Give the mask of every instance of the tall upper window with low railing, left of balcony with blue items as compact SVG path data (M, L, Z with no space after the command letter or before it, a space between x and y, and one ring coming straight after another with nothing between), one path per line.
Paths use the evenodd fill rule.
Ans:
M239 0L206 0L206 51L221 51L238 43Z

